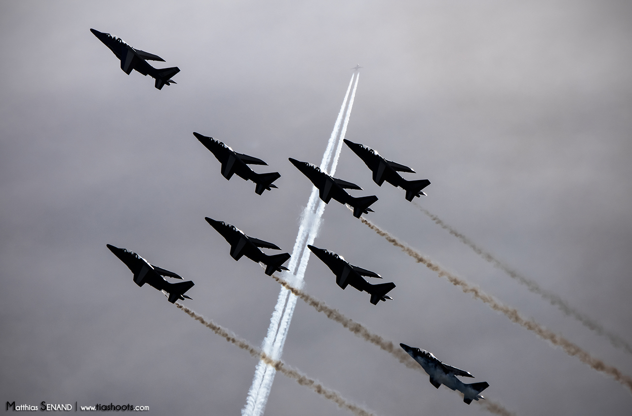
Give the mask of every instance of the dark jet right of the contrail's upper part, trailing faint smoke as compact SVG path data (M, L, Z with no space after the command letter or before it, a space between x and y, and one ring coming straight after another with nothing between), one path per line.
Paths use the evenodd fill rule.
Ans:
M428 181L428 179L406 181L406 179L397 173L397 171L399 171L414 174L415 170L410 169L408 166L391 162L391 160L386 160L372 148L360 145L360 143L353 143L353 141L344 139L344 144L349 146L349 148L353 150L353 153L358 155L368 166L368 169L373 171L373 181L379 186L382 186L384 181L386 181L392 186L399 186L405 189L406 199L408 201L412 201L415 196L425 195L425 193L422 192L422 189L430 185L430 181Z

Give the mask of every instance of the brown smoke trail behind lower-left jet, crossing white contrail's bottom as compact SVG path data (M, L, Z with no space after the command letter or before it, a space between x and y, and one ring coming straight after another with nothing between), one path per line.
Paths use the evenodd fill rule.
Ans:
M288 367L288 365L284 364L281 360L270 359L270 357L268 357L264 352L253 347L245 340L241 340L236 335L234 335L234 333L226 330L226 328L223 328L222 326L214 323L213 321L210 321L210 320L207 321L207 319L204 319L204 316L198 315L197 313L195 313L194 311L191 311L191 309L189 309L186 306L182 306L181 304L178 304L178 303L176 303L176 306L179 307L179 309L182 309L183 311L185 311L186 314L188 314L188 316L195 319L199 323L203 324L204 326L212 330L217 335L221 335L224 338L226 338L226 341L233 343L237 347L240 347L242 350L246 350L253 357L263 360L265 364L268 364L274 367L276 371L282 372L285 376L291 379L295 379L296 383L300 384L301 386L307 386L308 388L312 389L319 395L325 396L325 398L336 403L338 407L344 408L346 410L350 410L357 416L375 416L374 413L369 412L368 410L364 410L363 408L358 407L358 405L349 403L349 401L344 399L343 396L341 396L340 393L338 393L337 391L328 389L324 387L322 384L315 381L314 379L311 379L310 377L301 373L300 371L293 369L291 367Z

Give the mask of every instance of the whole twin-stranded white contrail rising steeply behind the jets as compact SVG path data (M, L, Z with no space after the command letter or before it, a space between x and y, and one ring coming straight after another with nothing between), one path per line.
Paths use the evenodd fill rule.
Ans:
M340 130L341 121L343 120L344 109L347 105L347 100L349 98L349 92L351 92L352 84L353 75L351 76L349 86L347 87L347 91L344 95L343 105L341 105L340 111L338 112L336 123L334 124L334 129L332 130L329 141L327 142L327 148L325 148L322 162L320 162L321 169L326 170L327 165L329 165L329 163L331 162L332 151L334 149L334 145L336 144L336 138ZM292 250L292 257L288 264L288 268L291 271L296 271L297 269L300 269L300 267L297 266L300 264L299 260L301 259L302 261L303 258L303 256L301 256L301 253L303 251L308 251L305 247L307 246L308 233L312 229L314 229L313 222L318 211L315 210L317 199L318 189L316 187L312 187L310 199L308 200L307 206L305 206L305 209L301 213L301 221L298 228L298 234L296 235L296 241ZM318 221L318 223L320 223L320 221ZM303 275L300 275L299 277L297 273L295 276L296 278L293 279L293 281L295 281L295 284L302 285ZM283 343L285 342L289 320L293 315L294 306L296 305L296 299L293 300L291 299L291 297L293 297L293 295L291 295L289 291L285 288L282 288L281 292L279 292L279 298L277 299L276 307L274 308L274 312L272 312L272 316L270 317L270 326L268 328L268 333L265 337L264 342L262 343L262 350L265 352L265 354L269 354L270 356L274 357L275 355L273 354L273 351L276 350L276 356L280 357L281 353L283 352ZM277 345L276 348L275 345ZM270 393L270 387L272 386L272 381L274 381L275 372L276 370L274 369L274 367L268 365L264 360L260 360L258 362L257 368L255 369L255 375L252 380L252 386L250 386L248 397L246 398L246 405L241 410L241 414L243 416L261 415L263 413L265 409L265 403L267 403L267 398Z

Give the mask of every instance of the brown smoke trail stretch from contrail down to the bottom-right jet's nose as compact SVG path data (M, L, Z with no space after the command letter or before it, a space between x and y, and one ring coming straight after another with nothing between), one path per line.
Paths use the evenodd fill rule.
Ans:
M281 279L279 276L272 275L272 278L281 283L284 288L288 289L290 292L303 299L305 303L307 303L309 306L312 306L319 312L323 312L327 316L327 318L332 319L339 324L342 324L344 328L347 328L354 335L359 336L360 338L363 338L364 340L382 348L382 350L391 353L396 359L399 360L399 362L406 365L406 367L424 372L422 367L417 364L415 360L411 359L410 355L406 354L403 349L393 345L392 341L387 341L382 338L382 336L372 333L365 326L363 326L363 324L357 323L351 318L347 318L337 309L327 306L325 302L322 302L321 300L308 295L307 293L303 292L303 290L292 287L288 284L288 282Z

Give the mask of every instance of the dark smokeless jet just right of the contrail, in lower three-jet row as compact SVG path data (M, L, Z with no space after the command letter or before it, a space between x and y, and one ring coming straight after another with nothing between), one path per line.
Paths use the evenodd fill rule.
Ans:
M374 273L373 271L349 264L342 256L338 256L332 251L319 249L318 247L310 246L309 244L307 247L313 254L316 254L323 263L327 264L327 267L329 267L331 271L334 272L336 275L336 283L339 287L344 289L347 285L351 285L360 290L360 292L367 292L371 295L371 303L374 305L377 305L377 302L380 300L386 301L386 299L393 299L386 294L395 287L395 283L391 282L382 283L381 285L372 285L364 280L362 276L377 277L379 279L381 279L382 276Z

